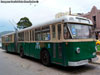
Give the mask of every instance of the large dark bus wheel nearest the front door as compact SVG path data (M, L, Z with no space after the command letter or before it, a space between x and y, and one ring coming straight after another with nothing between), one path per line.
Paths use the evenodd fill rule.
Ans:
M50 55L47 50L41 51L41 62L45 66L50 66Z

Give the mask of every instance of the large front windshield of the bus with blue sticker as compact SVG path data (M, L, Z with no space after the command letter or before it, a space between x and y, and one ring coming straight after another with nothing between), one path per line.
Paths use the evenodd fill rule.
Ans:
M94 38L92 26L83 24L68 24L68 29L73 39Z

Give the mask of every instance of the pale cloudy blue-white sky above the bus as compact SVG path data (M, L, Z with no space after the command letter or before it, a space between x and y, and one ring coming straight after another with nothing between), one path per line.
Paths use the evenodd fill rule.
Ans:
M32 25L55 18L59 12L87 13L93 6L100 9L100 0L38 0L39 3L0 3L0 32L13 31L22 17Z

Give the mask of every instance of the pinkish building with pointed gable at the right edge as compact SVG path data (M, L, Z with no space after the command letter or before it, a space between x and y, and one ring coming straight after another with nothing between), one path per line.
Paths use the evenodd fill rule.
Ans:
M90 12L82 14L81 16L89 18L94 24L96 38L100 39L100 10L93 6Z

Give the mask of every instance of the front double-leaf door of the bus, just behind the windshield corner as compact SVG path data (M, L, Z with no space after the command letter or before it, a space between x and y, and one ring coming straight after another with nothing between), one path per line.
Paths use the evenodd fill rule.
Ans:
M57 64L63 63L63 49L62 43L56 42L61 40L61 24L53 25L52 26L52 40L53 43L53 61Z

